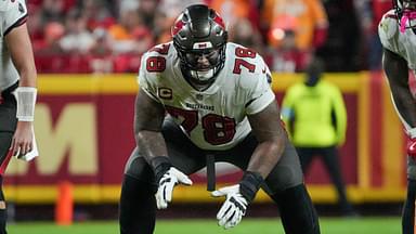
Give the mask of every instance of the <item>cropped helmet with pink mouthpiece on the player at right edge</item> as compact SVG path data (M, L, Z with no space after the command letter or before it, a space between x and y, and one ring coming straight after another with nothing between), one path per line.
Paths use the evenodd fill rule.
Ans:
M410 28L416 29L416 0L393 0L393 9L401 32Z

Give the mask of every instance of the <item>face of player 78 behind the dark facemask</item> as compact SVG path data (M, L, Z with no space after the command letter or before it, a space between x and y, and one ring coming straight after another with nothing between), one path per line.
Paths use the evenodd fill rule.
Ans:
M193 51L186 53L185 56L186 62L196 70L207 70L218 64L220 52L219 50Z

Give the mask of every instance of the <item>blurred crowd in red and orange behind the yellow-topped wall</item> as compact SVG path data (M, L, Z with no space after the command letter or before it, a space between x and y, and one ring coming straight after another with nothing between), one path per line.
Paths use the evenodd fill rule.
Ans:
M380 69L377 25L391 0L28 0L38 72L136 73L193 3L217 10L230 41L256 49L274 72L302 72L313 56L328 72Z

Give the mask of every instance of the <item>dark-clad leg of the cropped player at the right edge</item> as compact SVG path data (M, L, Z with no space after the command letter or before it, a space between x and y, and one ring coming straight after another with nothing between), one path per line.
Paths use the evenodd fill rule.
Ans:
M416 160L407 157L407 194L403 206L403 234L414 234L416 202Z

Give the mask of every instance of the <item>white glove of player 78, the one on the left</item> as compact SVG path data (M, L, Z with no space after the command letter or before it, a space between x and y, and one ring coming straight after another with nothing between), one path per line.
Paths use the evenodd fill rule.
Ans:
M171 167L159 181L159 186L155 195L157 209L166 209L168 207L168 203L172 200L173 187L179 183L192 185L192 181L186 174Z

